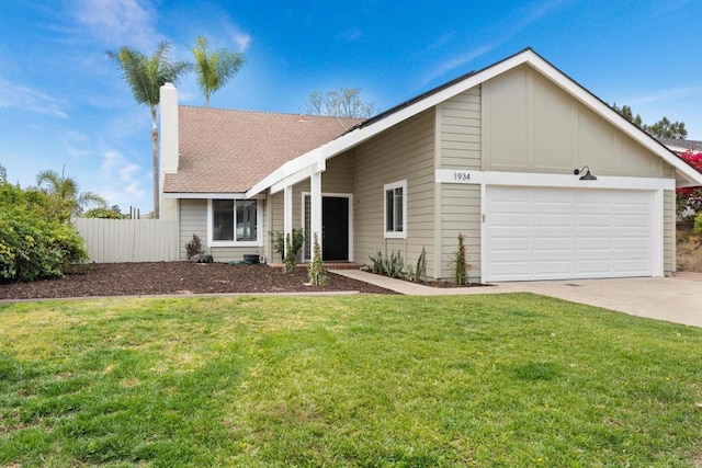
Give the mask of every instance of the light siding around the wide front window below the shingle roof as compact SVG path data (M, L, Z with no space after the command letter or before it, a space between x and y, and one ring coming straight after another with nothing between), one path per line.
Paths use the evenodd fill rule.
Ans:
M265 213L265 204L263 206ZM268 230L265 219L263 219L263 232ZM200 237L205 253L212 254L215 262L229 262L242 260L245 254L263 254L262 247L210 247L207 246L207 201L206 199L181 199L180 201L180 259L186 260L185 243L189 242L193 233Z

